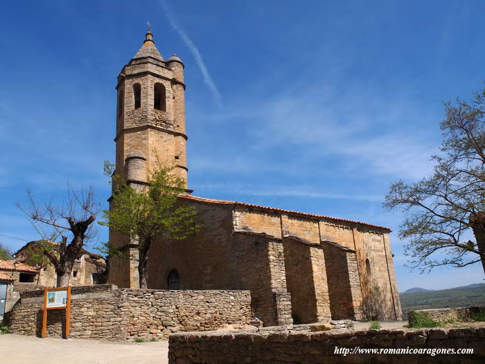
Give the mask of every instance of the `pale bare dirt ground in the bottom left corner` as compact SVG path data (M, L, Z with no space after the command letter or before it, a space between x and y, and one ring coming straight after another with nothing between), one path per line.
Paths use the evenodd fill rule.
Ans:
M0 363L8 364L168 364L168 340L155 343L112 343L101 340L0 335Z

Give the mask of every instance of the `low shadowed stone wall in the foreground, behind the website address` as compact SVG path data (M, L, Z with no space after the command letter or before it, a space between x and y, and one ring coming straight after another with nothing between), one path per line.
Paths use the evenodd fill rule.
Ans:
M169 364L484 363L485 327L461 329L208 331L173 333ZM473 354L335 354L335 347L473 349Z

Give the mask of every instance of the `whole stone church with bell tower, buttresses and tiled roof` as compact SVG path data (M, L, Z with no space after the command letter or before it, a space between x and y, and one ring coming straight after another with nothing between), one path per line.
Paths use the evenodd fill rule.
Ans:
M116 172L146 183L157 159L184 180L184 64L165 60L150 31L118 76ZM400 320L387 227L297 211L213 200L191 190L179 201L197 209L199 232L152 244L148 288L249 290L265 326L376 316ZM110 232L109 283L138 288L136 242Z

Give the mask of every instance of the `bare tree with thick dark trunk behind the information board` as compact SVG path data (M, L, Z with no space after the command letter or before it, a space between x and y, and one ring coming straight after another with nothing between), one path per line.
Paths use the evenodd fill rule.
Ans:
M82 256L84 250L82 246L89 237L95 234L96 215L98 214L98 204L94 200L92 187L81 189L79 192L73 190L70 184L67 186L67 200L55 205L51 199L44 205L35 202L32 191L27 191L29 207L19 208L33 221L40 223L48 230L39 228L44 236L53 236L57 233L60 237L58 249L44 249L43 253L53 264L58 275L57 286L65 287L69 284L71 271L74 261ZM68 244L67 233L71 235L71 242Z

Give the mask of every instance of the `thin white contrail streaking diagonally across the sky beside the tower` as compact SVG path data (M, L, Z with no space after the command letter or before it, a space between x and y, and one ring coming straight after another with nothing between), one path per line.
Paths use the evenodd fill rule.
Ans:
M222 108L222 98L217 87L215 87L215 83L212 80L211 75L209 74L209 70L204 64L204 60L202 60L202 55L200 54L199 49L197 49L197 46L195 46L191 38L189 38L185 31L182 29L182 25L177 19L177 15L175 15L175 12L172 10L172 8L170 8L168 3L165 0L161 0L160 3L161 7L164 8L165 16L168 19L170 26L172 26L174 31L179 33L184 43L188 46L188 49L191 50L195 58L195 62L197 62L197 66L199 67L200 71L202 72L202 76L204 77L204 83L206 83L207 87L209 87L215 103L217 103L218 107Z

